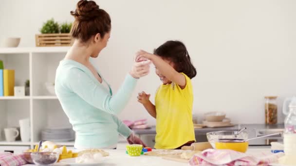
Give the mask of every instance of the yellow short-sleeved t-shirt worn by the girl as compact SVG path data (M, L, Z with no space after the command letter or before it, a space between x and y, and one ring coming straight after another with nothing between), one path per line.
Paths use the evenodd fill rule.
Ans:
M155 149L176 149L195 141L192 122L193 91L189 77L184 89L176 83L162 84L155 95Z

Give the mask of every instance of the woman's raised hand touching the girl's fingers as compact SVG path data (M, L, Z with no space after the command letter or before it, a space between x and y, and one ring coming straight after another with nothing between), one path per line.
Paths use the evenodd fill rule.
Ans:
M151 61L135 62L129 71L133 78L141 78L149 74Z

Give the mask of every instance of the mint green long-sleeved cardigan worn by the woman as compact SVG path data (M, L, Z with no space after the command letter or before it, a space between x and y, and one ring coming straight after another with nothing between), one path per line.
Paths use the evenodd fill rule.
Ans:
M126 138L132 133L116 114L128 103L136 83L137 79L128 74L112 95L110 85L107 83L107 89L99 83L86 66L74 60L60 61L56 96L76 133L75 148L107 148L117 144L119 133Z

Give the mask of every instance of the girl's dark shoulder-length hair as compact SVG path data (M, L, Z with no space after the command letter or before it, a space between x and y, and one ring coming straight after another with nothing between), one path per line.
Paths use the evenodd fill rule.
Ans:
M186 74L190 79L196 76L196 68L192 65L185 45L181 41L167 41L153 52L175 64L175 70Z

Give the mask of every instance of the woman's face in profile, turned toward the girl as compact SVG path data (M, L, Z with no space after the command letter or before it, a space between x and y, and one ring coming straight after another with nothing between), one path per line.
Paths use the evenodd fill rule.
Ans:
M110 33L111 31L109 33L105 33L104 37L101 37L100 33L97 33L94 36L94 42L92 45L92 48L93 48L93 53L91 56L92 58L98 57L101 50L103 50L107 46L107 43L110 38Z

